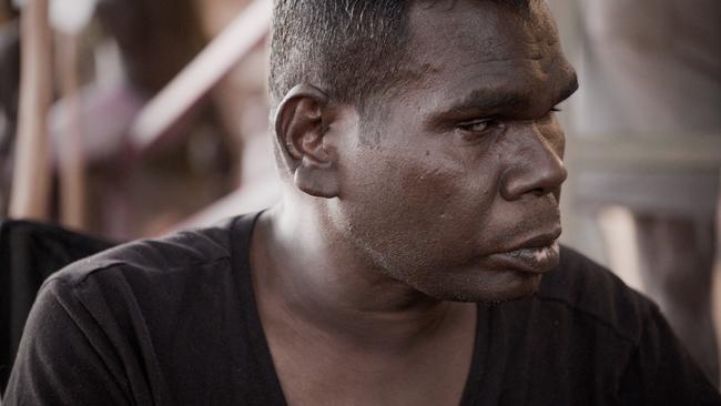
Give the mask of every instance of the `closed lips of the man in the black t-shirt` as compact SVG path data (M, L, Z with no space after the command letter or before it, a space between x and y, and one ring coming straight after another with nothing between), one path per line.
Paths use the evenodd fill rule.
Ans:
M505 252L488 256L499 268L544 274L558 265L560 230L530 237Z

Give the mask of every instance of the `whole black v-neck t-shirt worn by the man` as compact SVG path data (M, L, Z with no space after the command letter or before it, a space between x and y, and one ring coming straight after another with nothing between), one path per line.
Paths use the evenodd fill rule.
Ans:
M50 277L7 405L284 405L251 283L255 219L130 243ZM463 404L721 397L654 304L563 248L532 297L478 305Z

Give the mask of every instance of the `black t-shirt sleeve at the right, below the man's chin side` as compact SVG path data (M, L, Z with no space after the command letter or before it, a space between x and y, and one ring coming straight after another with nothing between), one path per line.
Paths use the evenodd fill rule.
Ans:
M622 405L719 405L721 396L652 306L621 378Z

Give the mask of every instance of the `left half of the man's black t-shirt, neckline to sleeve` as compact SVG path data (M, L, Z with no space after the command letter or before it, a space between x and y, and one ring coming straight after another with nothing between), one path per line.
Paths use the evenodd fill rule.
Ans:
M11 390L70 390L63 399L85 400L69 404L98 404L105 394L90 389L110 388L120 403L194 404L241 385L233 395L243 398L257 369L251 284L238 266L246 220L131 242L53 274L28 317ZM51 382L34 379L39 371Z

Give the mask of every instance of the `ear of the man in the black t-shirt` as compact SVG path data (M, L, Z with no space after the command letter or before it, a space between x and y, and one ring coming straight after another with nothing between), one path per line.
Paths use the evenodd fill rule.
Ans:
M275 112L275 134L286 170L303 192L336 197L335 156L324 145L328 97L318 88L298 84L283 98Z

